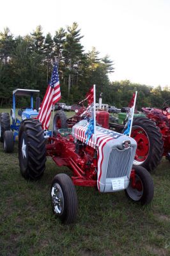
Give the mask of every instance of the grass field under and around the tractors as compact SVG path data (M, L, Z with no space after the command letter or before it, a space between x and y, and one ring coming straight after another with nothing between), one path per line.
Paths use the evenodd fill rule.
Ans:
M4 109L3 109L4 110ZM1 111L2 112L2 111ZM166 159L152 178L153 202L140 207L124 191L100 194L76 187L79 212L72 225L52 214L50 183L65 172L49 158L42 179L29 182L20 175L15 152L5 154L0 143L0 255L170 255L170 164Z

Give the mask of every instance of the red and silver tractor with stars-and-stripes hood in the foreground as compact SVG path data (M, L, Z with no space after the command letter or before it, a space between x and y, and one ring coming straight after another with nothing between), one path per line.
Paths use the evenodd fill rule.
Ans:
M64 120L60 118L59 122ZM50 189L52 210L63 223L72 223L77 214L74 185L95 187L100 193L125 190L127 198L141 205L153 198L150 173L133 165L135 140L97 126L96 136L87 141L87 127L88 121L81 120L72 129L57 129L55 136L44 138L38 120L27 119L20 126L19 164L24 178L40 179L47 156L58 166L72 170L71 179L65 173L56 175Z

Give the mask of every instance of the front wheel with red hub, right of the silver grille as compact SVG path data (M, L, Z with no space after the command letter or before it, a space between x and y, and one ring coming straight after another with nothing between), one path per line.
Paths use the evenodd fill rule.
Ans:
M150 173L142 166L133 166L125 195L141 205L150 204L153 199L153 180Z

